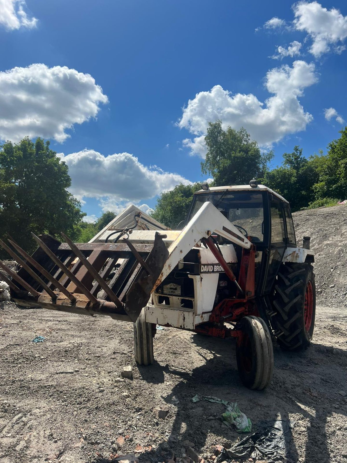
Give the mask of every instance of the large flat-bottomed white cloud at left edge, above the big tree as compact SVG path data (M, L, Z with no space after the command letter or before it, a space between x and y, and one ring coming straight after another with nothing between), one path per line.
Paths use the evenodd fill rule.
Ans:
M0 0L1 1L1 0ZM99 112L108 99L89 74L31 64L0 72L0 139L70 137L65 130Z

